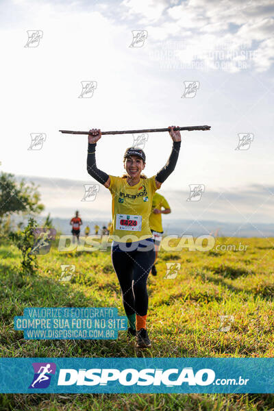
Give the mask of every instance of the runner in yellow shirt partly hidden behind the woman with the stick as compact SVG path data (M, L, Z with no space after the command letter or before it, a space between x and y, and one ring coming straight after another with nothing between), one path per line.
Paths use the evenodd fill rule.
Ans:
M164 208L164 210L162 210ZM169 203L166 201L163 195L160 195L158 192L155 192L152 199L152 209L149 216L149 227L153 235L153 241L155 245L155 262L157 260L158 249L160 242L162 240L163 228L162 228L162 214L171 213L171 208ZM155 262L151 269L151 274L156 275L157 270L155 267Z

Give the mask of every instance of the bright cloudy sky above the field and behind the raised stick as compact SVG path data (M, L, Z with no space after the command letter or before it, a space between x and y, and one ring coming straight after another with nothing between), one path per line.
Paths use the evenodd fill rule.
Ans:
M62 216L68 204L74 209L73 199L66 199L75 193L79 201L83 184L90 182L87 137L59 129L210 125L210 132L182 133L177 168L163 189L182 194L189 184L203 184L204 198L216 200L208 208L201 199L205 216L214 210L228 218L217 201L222 193L237 210L235 221L239 210L249 209L255 220L269 220L271 1L3 0L0 8L1 170L40 178L53 216ZM32 31L40 36L33 44L28 42ZM142 37L139 42L136 36ZM96 82L92 97L79 98L82 82ZM187 92L190 83L196 91ZM31 134L42 134L40 149L29 149ZM248 149L236 149L238 134L249 134ZM123 153L133 141L132 134L103 136L97 145L99 168L121 175ZM169 134L149 134L147 175L164 165L170 151ZM91 210L110 207L110 197L99 197Z

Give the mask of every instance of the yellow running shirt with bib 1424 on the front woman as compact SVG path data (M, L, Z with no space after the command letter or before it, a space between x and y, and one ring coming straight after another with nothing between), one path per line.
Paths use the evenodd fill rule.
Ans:
M135 186L129 186L126 178L110 175L112 194L112 227L110 236L118 242L133 242L151 238L149 214L155 190L155 175L140 179Z

